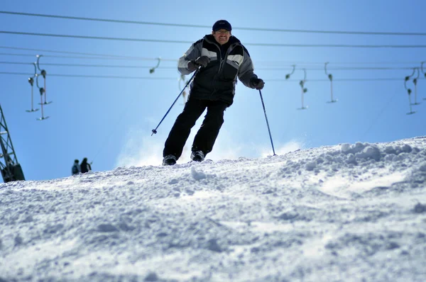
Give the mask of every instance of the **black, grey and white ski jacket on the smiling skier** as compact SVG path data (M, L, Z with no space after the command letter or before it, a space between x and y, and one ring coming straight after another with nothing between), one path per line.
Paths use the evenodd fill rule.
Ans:
M187 52L180 57L178 70L181 74L190 74L188 62L200 56L210 58L207 67L202 67L191 83L190 98L210 101L224 101L229 106L234 101L236 78L247 87L254 89L250 79L257 78L253 73L253 62L246 47L238 38L231 35L224 50L213 35L193 43ZM225 54L222 54L225 52ZM223 59L222 59L223 58Z

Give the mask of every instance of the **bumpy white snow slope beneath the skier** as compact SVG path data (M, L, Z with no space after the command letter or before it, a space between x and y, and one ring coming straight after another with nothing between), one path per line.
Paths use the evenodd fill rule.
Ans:
M426 281L426 137L0 184L0 281Z

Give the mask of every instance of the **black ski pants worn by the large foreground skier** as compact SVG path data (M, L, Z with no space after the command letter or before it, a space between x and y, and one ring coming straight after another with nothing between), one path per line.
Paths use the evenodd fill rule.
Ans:
M185 142L190 136L191 128L195 125L200 115L207 108L200 130L195 135L192 151L201 150L205 154L212 152L219 130L224 123L224 111L228 107L222 101L208 101L190 98L185 103L182 113L176 118L175 124L165 140L163 157L173 154L179 159Z

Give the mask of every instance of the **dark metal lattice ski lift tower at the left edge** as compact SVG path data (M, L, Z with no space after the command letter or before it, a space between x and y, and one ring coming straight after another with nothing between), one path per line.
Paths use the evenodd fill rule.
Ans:
M25 180L21 164L18 164L15 150L13 150L12 140L7 130L6 120L0 105L0 169L4 183L9 181Z

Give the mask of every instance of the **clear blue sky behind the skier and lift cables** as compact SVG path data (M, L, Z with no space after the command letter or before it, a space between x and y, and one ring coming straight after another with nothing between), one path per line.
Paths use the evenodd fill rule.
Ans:
M425 135L426 85L424 74L417 82L417 101L410 111L404 77L425 61L425 48L283 47L273 44L425 45L425 36L289 33L245 30L275 28L422 33L426 4L423 1L231 1L199 5L175 1L4 1L1 11L58 16L107 18L152 23L212 26L224 18L233 35L248 48L258 77L266 81L262 91L275 150L285 152L339 143L388 142ZM61 18L17 16L0 13L0 30L25 33L84 35L109 38L140 38L195 42L211 28L155 26L130 23L77 21ZM269 46L255 45L258 43ZM95 171L122 165L160 164L163 143L176 116L180 98L151 136L151 130L180 93L178 58L190 43L152 43L129 40L94 40L0 33L0 103L18 162L27 180L69 176L74 159L87 157ZM13 50L5 47L53 50ZM147 60L81 59L83 55L60 52L143 57ZM5 55L7 54L7 55ZM48 120L38 121L40 111L31 108L35 55L43 55L40 68L47 77ZM62 56L62 57L55 57ZM65 58L71 56L71 58ZM89 57L89 56L85 56ZM92 56L93 57L93 56ZM160 67L153 74L155 58ZM8 62L8 63L4 63ZM25 62L28 64L11 64ZM324 63L334 77L337 103L330 99L330 83ZM314 64L316 63L316 64ZM102 64L130 67L67 67L49 64ZM285 74L296 70L285 81ZM307 69L305 111L301 106L300 79ZM344 70L343 67L361 69ZM366 67L386 69L365 69ZM274 69L275 68L275 69ZM278 69L277 69L278 68ZM339 69L340 68L340 69ZM362 69L364 68L364 69ZM58 77L54 74L82 75ZM51 76L49 76L51 75ZM144 79L87 77L116 76ZM187 77L188 79L189 77ZM379 80L397 78L399 80ZM372 79L348 81L339 79ZM320 81L319 81L320 80ZM43 79L40 80L43 82ZM408 81L413 89L413 81ZM40 96L35 89L34 99ZM36 103L34 107L40 107ZM200 122L193 129L199 127ZM189 150L192 139L187 142ZM226 110L225 123L210 159L262 157L272 154L258 91L239 83L234 105ZM185 162L189 152L180 162ZM179 163L179 162L178 162Z

